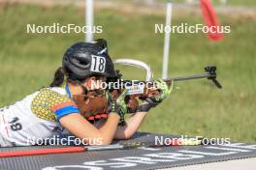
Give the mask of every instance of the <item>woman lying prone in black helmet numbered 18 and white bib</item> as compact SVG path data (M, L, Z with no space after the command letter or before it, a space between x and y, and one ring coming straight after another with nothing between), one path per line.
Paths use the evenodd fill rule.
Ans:
M118 123L120 116L127 113L125 94L111 99L106 121L91 124L80 112L73 97L97 90L91 87L94 81L110 81L116 76L107 44L100 41L73 44L65 52L62 67L55 72L48 88L0 109L1 147L33 145L31 139L50 138L64 129L88 143L100 139L95 145L108 145L112 139L130 138L140 127L148 110L166 99L173 87L161 83L158 87L161 93L145 99L139 110L125 120L123 127ZM108 90L105 94L108 95Z

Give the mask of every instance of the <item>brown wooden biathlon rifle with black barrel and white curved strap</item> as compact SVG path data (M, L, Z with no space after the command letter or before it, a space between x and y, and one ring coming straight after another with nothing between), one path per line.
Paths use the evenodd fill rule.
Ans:
M153 81L151 81L152 72L150 68L143 62L131 59L121 59L115 61L115 64L135 66L146 71L146 78L144 81L123 80L121 79L122 75L120 73L118 73L118 77L116 79L111 80L112 86L108 88L111 93L112 99L117 99L119 95L121 95L123 91L127 89L125 102L127 104L128 113L137 112L138 107L140 105L140 100L144 100L148 97L155 96L160 93L160 90L155 88ZM217 88L221 89L222 86L217 81L217 68L215 66L208 66L205 68L205 71L206 73L173 77L164 79L164 81L170 87L172 85L172 81L188 81L194 79L207 78L208 80L212 81ZM117 84L117 86L114 83ZM107 118L106 113L108 114L109 112L109 104L108 99L106 99L106 96L98 95L97 93L95 94L95 92L92 92L86 94L85 96L75 96L75 100L77 101L80 111L84 115L86 115L87 120L94 122L102 118ZM124 118L120 119L120 123L121 125L124 125Z

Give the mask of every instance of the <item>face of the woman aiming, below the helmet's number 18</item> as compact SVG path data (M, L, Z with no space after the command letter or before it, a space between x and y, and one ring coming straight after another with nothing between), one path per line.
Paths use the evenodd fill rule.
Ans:
M106 76L90 76L84 82L83 86L85 86L89 91L95 89L104 89L107 81Z

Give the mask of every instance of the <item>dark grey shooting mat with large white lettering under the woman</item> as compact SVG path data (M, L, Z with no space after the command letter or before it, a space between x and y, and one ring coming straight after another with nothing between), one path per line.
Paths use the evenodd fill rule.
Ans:
M136 133L128 142L152 142L155 136L176 138L145 132ZM114 141L127 142L126 141ZM0 152L33 150L56 146L2 148ZM63 147L63 146L59 146ZM174 146L137 148L129 150L94 151L73 154L16 156L0 158L0 169L10 170L80 170L80 169L162 169L208 162L256 157L256 145L231 143L229 145Z

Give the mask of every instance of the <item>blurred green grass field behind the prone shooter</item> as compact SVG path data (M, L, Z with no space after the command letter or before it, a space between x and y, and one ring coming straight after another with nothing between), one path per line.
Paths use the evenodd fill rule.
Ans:
M65 49L84 40L82 34L26 34L26 24L82 25L83 14L75 7L0 7L0 107L48 86ZM155 77L161 76L164 35L154 33L154 24L164 23L164 16L101 11L95 17L104 28L96 38L109 41L112 58L140 59L151 66ZM177 83L179 90L150 111L141 130L256 142L256 22L223 15L220 20L232 27L222 42L208 42L203 34L172 35L169 74L198 73L207 65L217 65L224 88L218 90L207 80ZM203 21L197 15L174 20L181 22ZM127 78L142 78L138 72L123 70Z

